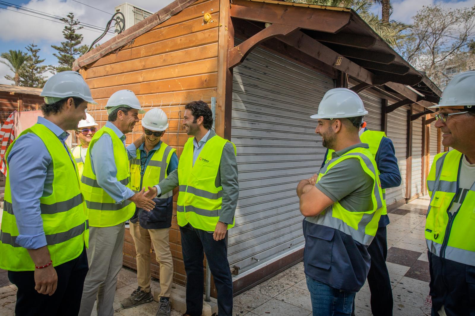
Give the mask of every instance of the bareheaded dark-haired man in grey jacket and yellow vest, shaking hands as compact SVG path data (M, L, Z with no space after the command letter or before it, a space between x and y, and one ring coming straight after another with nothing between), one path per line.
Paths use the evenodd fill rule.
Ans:
M178 169L147 196L166 194L179 186L177 221L187 276L186 313L199 316L203 309L203 251L218 292L218 315L231 316L233 284L225 236L234 226L239 186L236 147L211 129L208 104L193 101L185 106L183 125L192 136L186 142Z

